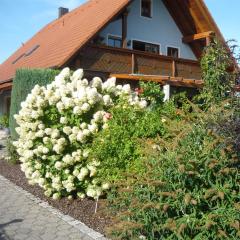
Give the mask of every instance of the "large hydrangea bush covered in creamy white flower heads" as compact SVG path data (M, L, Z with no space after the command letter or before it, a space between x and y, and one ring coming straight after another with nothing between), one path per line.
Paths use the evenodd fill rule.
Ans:
M46 87L36 85L14 116L19 125L14 145L29 183L54 199L97 198L107 191L109 184L97 178L101 163L90 161L89 154L95 134L108 128L108 110L121 99L137 108L147 105L130 85L116 85L115 78L88 82L82 69L71 75L65 68Z

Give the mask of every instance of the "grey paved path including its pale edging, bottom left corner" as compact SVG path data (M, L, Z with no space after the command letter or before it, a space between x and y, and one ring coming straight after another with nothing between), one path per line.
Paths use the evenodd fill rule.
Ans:
M0 239L100 240L102 235L0 175Z

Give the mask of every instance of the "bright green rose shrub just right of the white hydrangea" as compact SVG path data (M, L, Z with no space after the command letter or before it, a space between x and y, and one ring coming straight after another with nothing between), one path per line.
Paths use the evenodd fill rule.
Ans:
M132 169L141 169L140 142L165 133L163 93L159 84L141 83L139 96L149 102L147 109L134 109L119 103L110 110L108 128L93 141L92 159L101 162L98 176L110 182L124 179Z

